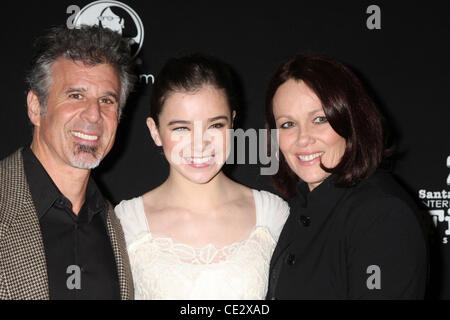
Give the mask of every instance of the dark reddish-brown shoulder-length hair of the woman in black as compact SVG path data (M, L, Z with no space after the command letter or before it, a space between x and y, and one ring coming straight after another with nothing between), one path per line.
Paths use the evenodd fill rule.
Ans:
M346 141L341 161L334 168L323 164L321 168L333 174L334 184L342 187L369 177L388 154L387 134L382 115L359 79L334 59L307 55L290 58L275 72L266 92L266 126L270 129L276 128L273 97L290 79L303 81L317 95L331 127ZM279 159L280 168L272 180L284 197L290 197L300 179L282 154Z

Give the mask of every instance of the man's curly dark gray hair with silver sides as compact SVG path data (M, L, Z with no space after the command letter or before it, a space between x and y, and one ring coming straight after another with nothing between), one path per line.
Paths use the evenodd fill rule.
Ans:
M58 58L82 62L87 66L97 64L111 65L120 80L120 101L118 117L133 84L130 46L122 36L99 26L82 26L68 29L66 26L54 27L36 41L37 53L27 76L29 90L39 99L41 114L45 116L47 99L52 85L51 70Z

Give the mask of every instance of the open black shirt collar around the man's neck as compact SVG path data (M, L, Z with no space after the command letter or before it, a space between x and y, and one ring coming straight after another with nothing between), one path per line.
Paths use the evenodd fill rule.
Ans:
M24 148L22 156L25 175L38 218L41 219L53 205L71 209L72 204L59 191L33 151L30 148ZM80 216L83 210L87 210L86 217L88 221L91 221L95 214L104 212L105 208L106 202L94 180L90 177L86 189L86 200L80 211Z

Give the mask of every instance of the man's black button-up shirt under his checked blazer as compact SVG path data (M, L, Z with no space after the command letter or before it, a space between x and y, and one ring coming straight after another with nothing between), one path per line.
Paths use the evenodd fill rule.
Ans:
M31 149L23 162L47 261L50 299L120 299L106 229L107 205L92 178L78 216Z

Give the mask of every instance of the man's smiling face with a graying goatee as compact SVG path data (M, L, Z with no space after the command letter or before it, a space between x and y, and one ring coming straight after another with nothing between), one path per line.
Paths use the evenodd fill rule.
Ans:
M28 100L32 111L33 95ZM119 78L110 65L57 59L46 114L29 111L35 125L33 150L57 167L95 168L114 143L119 95Z

